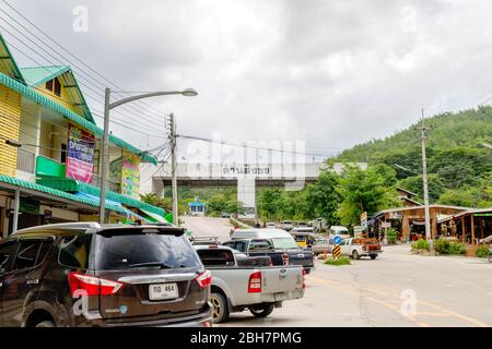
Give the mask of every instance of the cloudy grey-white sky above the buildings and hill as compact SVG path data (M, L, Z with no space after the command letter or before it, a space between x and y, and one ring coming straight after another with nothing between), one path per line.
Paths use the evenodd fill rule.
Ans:
M8 1L125 91L199 92L148 100L152 110L137 104L115 113L141 133L118 124L112 130L142 148L163 142L164 116L155 110L173 111L181 134L305 141L307 152L335 154L407 128L422 108L430 116L492 95L490 0ZM36 29L2 1L0 9L35 39ZM28 53L12 48L22 65L59 63L28 51L16 41L22 36L5 33L15 33L8 24L14 22L0 17L9 43ZM52 43L44 45L96 79L79 77L101 111L102 77Z

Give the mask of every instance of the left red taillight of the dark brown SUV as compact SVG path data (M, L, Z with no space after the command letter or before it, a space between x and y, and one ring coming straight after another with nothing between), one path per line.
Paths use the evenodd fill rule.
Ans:
M110 296L116 294L122 287L121 282L102 279L79 273L69 274L70 294L75 291L85 291L86 296Z

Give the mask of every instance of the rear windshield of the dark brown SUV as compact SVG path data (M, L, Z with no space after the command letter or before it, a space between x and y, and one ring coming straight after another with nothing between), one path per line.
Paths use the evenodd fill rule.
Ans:
M201 262L185 236L157 233L97 234L95 268L199 267Z

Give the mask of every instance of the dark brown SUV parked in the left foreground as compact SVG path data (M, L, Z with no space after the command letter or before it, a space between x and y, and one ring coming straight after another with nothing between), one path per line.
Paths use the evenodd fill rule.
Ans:
M27 228L0 243L0 325L210 326L210 272L165 226Z

